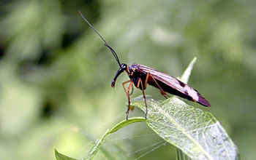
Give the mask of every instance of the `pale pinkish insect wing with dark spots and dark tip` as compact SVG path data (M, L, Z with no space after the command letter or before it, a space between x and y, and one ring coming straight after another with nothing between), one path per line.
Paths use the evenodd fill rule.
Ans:
M140 71L143 71L145 73L151 73L151 76L153 76L154 79L162 81L163 83L167 84L169 87L172 87L173 89L178 90L178 92L181 92L184 95L188 95L189 97L192 97L192 99L195 100L197 103L200 103L205 106L211 106L211 104L208 103L208 101L202 95L200 95L200 93L197 92L197 90L193 89L187 84L184 84L182 81L179 81L175 77L170 76L167 73L162 73L160 71L157 71L154 68L150 68L146 65L138 65L138 68L140 68Z

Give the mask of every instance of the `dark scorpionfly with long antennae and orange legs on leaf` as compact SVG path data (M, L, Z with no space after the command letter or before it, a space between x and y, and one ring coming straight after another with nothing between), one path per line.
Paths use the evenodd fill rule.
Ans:
M81 17L83 17L82 13L80 11L78 11L78 12L81 15ZM123 87L124 87L124 84L129 83L129 86L127 89L124 87L124 92L126 93L127 98L128 98L128 109L126 112L127 119L128 119L130 103L131 103L131 101L130 101L131 88L133 91L132 84L134 84L135 87L137 87L138 89L141 89L143 92L143 98L144 98L145 106L146 106L145 118L147 118L147 114L148 114L148 107L147 107L146 96L145 96L145 92L144 92L144 90L147 87L147 84L158 88L160 90L161 94L166 98L170 97L166 93L166 92L168 92L172 95L177 95L177 96L183 97L187 100L195 101L195 102L199 103L200 105L211 106L211 104L208 103L208 101L202 95L200 95L200 93L197 92L197 90L193 89L192 87L190 87L187 84L184 84L182 81L179 81L175 77L168 75L167 73L162 73L162 72L157 71L154 68L150 68L146 65L140 65L140 64L127 65L124 63L121 64L114 49L108 45L107 41L105 41L105 39L91 25L91 23L89 23L89 21L86 20L85 17L83 17L83 20L85 20L86 23L88 23L91 26L91 28L94 29L94 31L104 41L105 46L108 47L108 49L110 49L110 51L112 52L113 56L115 57L118 65L120 67L112 80L111 87L115 87L116 79L124 71L126 71L129 76L129 81L125 81L123 83Z

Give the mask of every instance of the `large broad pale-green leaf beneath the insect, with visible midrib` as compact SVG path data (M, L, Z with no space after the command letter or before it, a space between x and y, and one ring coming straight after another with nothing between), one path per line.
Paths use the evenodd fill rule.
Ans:
M148 99L146 123L190 159L239 159L238 149L211 113L187 105L177 97ZM145 112L144 101L133 103Z

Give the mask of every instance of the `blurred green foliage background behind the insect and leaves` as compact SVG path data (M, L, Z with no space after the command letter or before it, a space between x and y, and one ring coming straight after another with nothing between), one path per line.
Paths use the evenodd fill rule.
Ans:
M213 113L241 158L255 159L255 1L0 3L0 159L55 159L53 148L81 159L91 147L85 134L97 138L125 118L121 83L128 76L122 74L116 88L110 87L118 65L78 10L121 63L181 76L197 57L189 84L211 108L187 103ZM138 95L135 89L132 97ZM162 99L153 87L146 95ZM144 114L135 108L129 116L135 115ZM148 151L141 148L161 141L145 123L111 136L108 142L135 158ZM140 159L175 157L176 148L167 144ZM95 159L105 158L99 152Z

